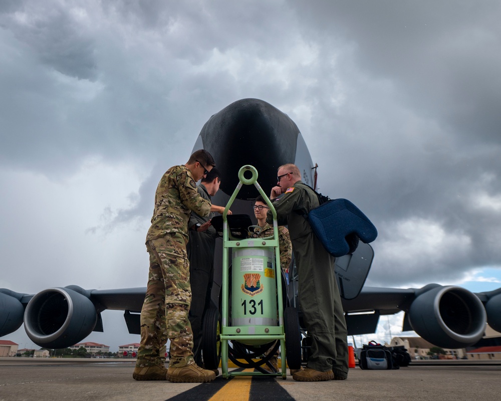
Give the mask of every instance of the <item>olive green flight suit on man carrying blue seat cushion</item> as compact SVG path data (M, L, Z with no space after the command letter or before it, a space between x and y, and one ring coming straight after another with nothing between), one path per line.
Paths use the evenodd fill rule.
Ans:
M274 202L279 225L288 225L299 276L299 302L312 338L307 366L348 376L347 329L332 257L303 217L319 206L315 192L302 181L287 188ZM268 211L267 222L273 222Z

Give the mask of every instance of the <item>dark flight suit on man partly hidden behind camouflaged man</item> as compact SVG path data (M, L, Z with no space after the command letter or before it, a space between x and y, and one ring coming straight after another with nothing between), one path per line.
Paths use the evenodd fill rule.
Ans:
M198 185L198 193L204 199L211 202L209 193L205 185ZM188 227L193 227L197 223L208 222L215 213L202 217L196 213L191 214ZM193 332L193 355L195 363L202 364L202 322L205 311L210 306L210 292L214 280L214 249L218 234L214 227L210 226L206 231L188 231L189 242L186 247L189 260L190 286L191 286L191 306L189 310L189 321Z

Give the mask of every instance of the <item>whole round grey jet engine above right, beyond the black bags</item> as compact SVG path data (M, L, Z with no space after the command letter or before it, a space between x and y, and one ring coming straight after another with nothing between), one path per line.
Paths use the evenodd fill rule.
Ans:
M477 296L453 286L437 286L412 302L408 312L412 329L442 348L475 344L485 332L485 309Z

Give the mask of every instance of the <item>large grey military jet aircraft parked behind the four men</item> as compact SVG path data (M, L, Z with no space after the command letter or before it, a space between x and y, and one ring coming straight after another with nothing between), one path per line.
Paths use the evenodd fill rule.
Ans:
M303 182L316 186L316 166L297 125L285 113L259 99L236 101L211 116L193 150L201 148L213 155L223 175L220 190L213 197L216 205L226 205L238 184L238 170L246 164L256 167L258 181L266 193L276 182L278 167L285 163L298 165ZM243 187L231 207L233 214L253 216L256 195L254 187ZM350 335L374 333L380 315L400 311L405 311L404 331L414 330L444 348L477 343L487 322L501 331L501 288L474 294L461 287L438 284L419 289L364 287L372 258L370 245L360 243L353 254L336 259L336 277ZM220 252L215 266L220 269ZM297 291L294 284L292 278L289 293L293 302ZM219 287L216 279L212 292L215 305ZM123 310L129 332L139 333L145 290L85 290L72 285L30 295L0 289L0 336L14 332L24 323L34 343L48 348L68 347L92 331L103 331L101 312L106 309Z

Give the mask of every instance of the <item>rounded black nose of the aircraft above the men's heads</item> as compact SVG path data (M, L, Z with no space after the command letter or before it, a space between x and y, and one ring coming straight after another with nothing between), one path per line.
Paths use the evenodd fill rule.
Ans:
M289 116L260 99L241 99L214 114L200 136L203 147L221 171L220 189L233 193L238 170L245 164L257 168L258 182L265 193L276 185L280 165L294 163L299 129ZM244 185L240 199L253 199L256 188Z

